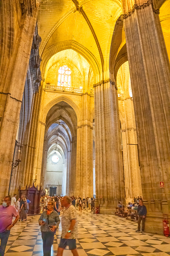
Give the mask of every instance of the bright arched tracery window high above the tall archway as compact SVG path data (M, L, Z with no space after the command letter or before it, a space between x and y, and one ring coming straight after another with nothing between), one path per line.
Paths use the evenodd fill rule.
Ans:
M71 69L67 65L59 68L58 86L71 87Z

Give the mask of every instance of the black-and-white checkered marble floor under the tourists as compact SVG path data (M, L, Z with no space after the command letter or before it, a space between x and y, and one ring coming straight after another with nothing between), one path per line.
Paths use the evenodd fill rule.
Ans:
M83 211L78 213L79 256L168 256L170 237L150 233L136 233L137 223L115 215L98 215ZM42 238L38 224L39 215L18 222L11 230L5 256L43 256ZM52 256L56 256L60 242L61 225L55 235ZM72 255L68 249L64 256Z

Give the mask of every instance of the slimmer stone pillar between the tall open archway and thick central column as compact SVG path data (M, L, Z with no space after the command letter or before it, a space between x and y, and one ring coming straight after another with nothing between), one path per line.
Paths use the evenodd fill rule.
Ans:
M90 123L90 95L82 96L82 125L77 126L76 196L93 196L93 125Z

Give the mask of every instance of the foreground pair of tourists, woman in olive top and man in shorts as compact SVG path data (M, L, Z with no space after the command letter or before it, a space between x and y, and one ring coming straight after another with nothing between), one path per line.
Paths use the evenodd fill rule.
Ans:
M48 201L47 209L40 216L39 225L41 226L42 232L44 256L51 255L54 234L60 224L59 214L55 210L55 205L59 201L61 201L61 207L65 207L65 211L62 215L62 235L57 256L63 255L63 250L67 245L73 255L78 256L76 248L76 238L78 235L76 209L72 205L73 200L68 196L61 198L61 200L55 197L54 202L53 198L51 198L51 200Z

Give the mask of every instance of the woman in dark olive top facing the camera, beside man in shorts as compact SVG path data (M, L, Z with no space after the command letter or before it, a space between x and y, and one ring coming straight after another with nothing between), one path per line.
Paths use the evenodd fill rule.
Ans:
M47 205L47 210L41 214L39 219L43 239L44 256L51 256L51 246L54 241L54 234L56 233L59 224L59 215L54 211L54 203L50 201Z

